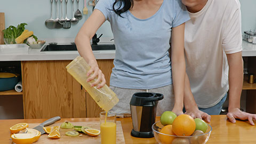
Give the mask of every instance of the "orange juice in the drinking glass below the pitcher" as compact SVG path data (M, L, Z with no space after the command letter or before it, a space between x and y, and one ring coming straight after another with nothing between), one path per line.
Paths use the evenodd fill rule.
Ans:
M100 124L101 144L116 143L116 123L106 122Z

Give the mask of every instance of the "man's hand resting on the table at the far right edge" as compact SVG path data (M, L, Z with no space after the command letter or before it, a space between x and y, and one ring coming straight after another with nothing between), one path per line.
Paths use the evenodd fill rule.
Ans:
M248 119L251 125L255 125L253 120L256 121L255 114L246 113L241 111L239 108L228 109L227 117L231 123L236 123L236 118L241 120Z

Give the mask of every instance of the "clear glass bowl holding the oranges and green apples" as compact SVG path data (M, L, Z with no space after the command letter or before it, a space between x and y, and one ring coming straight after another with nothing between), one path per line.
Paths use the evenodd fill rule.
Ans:
M154 132L154 137L159 144L204 144L209 140L210 134L212 132L212 126L207 124L208 128L204 134L191 135L191 136L177 136L161 133L161 129L164 127L160 121L152 125Z

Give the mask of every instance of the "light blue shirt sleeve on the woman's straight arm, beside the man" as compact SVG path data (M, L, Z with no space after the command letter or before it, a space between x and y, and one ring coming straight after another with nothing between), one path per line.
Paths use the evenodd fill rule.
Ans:
M172 27L177 27L181 25L182 23L188 21L190 19L187 8L185 5L182 4L180 0L176 0L174 2L175 4L175 18L172 21Z

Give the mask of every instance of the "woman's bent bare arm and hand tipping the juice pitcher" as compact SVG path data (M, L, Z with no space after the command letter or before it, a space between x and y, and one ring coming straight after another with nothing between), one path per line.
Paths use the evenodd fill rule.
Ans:
M91 69L88 71L87 76L90 76L93 73L87 79L87 82L91 81L95 77L98 77L97 81L91 84L91 86L97 85L98 89L105 85L106 80L102 71L99 69L98 63L93 55L90 39L94 36L96 31L105 21L106 18L103 13L95 9L92 12L92 15L84 22L84 25L79 30L75 38L75 43L79 54L91 66Z

